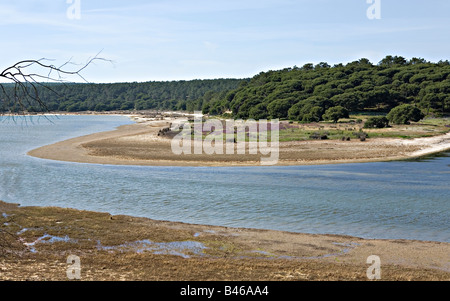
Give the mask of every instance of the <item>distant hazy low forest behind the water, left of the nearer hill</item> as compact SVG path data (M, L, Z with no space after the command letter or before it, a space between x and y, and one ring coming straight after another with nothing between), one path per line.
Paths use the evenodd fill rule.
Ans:
M226 94L243 80L216 79L173 82L114 84L47 84L39 87L40 98L50 111L115 111L115 110L202 110L222 113L228 107ZM244 80L245 81L245 80ZM7 93L13 88L3 84ZM0 107L4 103L0 94ZM211 103L207 106L205 103ZM36 106L37 107L37 106ZM27 107L28 111L32 104Z

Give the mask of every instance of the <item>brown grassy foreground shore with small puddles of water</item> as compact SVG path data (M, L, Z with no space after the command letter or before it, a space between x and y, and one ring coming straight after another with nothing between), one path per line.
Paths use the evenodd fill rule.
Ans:
M157 221L0 201L15 249L3 280L68 280L67 254L88 281L366 281L379 256L383 281L450 280L450 243L363 239ZM1 233L0 233L1 234Z

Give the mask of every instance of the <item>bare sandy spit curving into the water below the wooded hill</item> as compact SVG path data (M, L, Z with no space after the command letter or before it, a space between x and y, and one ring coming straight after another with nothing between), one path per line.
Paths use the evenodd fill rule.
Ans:
M132 116L135 124L47 145L28 155L42 159L93 164L146 166L259 166L261 155L176 155L161 128L176 118L148 120ZM434 137L367 141L280 142L279 166L365 163L403 160L450 150L450 133Z

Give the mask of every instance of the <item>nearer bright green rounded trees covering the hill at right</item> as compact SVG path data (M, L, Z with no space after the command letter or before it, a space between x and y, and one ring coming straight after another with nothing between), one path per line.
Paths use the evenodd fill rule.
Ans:
M410 104L425 114L444 115L450 112L449 74L448 61L400 56L387 56L378 64L364 58L346 65L305 64L261 72L225 96L206 101L203 112L312 122L323 120L333 107L388 113Z

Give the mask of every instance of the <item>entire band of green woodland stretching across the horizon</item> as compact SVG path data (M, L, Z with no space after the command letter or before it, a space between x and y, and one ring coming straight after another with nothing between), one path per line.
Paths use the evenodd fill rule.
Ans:
M202 110L210 115L232 112L236 118L303 122L320 121L337 106L348 112L388 113L412 104L427 115L450 113L450 63L400 56L387 56L377 64L367 59L334 66L306 64L261 72L251 79L52 84L50 88L38 91L49 111ZM32 103L26 109L42 110ZM11 111L16 110L20 111L17 104Z

